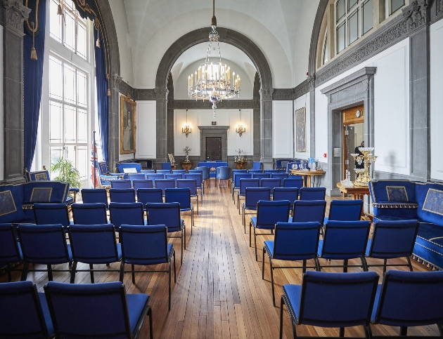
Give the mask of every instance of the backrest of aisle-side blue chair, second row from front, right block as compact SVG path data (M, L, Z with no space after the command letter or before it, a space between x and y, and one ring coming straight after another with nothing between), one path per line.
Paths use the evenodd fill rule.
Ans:
M274 236L273 259L314 259L319 247L319 222L277 222Z

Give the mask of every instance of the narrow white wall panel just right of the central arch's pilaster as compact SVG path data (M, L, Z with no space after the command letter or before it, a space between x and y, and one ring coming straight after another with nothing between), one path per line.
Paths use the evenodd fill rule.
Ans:
M272 157L292 158L293 143L293 101L272 102Z

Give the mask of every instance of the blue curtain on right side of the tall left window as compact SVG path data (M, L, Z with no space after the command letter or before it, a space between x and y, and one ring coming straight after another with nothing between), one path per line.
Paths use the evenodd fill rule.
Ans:
M97 41L98 32L94 27L94 41ZM100 34L101 37L101 34ZM98 104L98 125L101 135L101 152L103 160L108 164L108 139L109 139L109 97L108 79L106 78L105 51L103 39L101 48L94 48L96 54L96 80L97 80L97 104Z

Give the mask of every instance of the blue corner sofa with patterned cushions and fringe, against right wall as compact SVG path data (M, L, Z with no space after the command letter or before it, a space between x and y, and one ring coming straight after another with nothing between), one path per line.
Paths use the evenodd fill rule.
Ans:
M416 219L420 223L413 258L443 269L443 184L409 180L369 183L375 220Z

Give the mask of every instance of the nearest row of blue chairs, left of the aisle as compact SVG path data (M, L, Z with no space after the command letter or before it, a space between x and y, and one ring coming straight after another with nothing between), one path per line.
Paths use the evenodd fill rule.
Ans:
M126 293L120 282L72 285L49 281L37 293L31 281L0 284L1 338L139 338L150 296Z

